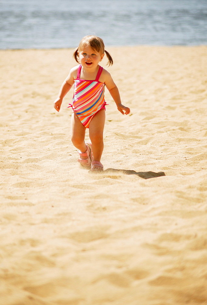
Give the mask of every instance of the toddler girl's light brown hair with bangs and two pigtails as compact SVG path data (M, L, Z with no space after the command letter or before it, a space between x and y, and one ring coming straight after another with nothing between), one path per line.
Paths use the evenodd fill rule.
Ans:
M113 64L113 59L111 57L111 55L109 54L109 52L107 52L105 50L105 46L104 46L104 42L101 38L94 36L94 35L89 35L89 36L85 36L81 39L78 48L75 50L73 57L74 59L77 61L77 63L79 63L78 61L78 51L81 51L85 46L90 45L90 47L94 50L97 51L101 54L103 54L104 52L106 53L106 56L108 58L108 62L107 65L112 65Z

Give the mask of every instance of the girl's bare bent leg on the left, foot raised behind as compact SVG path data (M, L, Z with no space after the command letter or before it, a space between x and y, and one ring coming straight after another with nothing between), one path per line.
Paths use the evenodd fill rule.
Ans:
M85 152L87 150L87 147L85 146L85 141L84 141L85 140L85 130L86 130L86 128L81 123L77 114L72 113L72 116L71 116L71 141L72 141L73 145L77 149L79 149L81 152Z

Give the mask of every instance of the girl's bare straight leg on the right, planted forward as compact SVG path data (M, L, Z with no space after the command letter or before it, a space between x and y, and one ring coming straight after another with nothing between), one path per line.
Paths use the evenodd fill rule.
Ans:
M92 144L93 160L100 161L103 152L103 130L105 109L99 110L89 124L89 137Z

